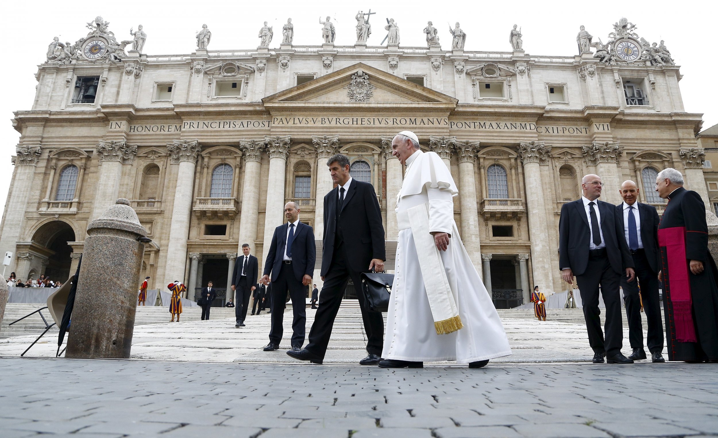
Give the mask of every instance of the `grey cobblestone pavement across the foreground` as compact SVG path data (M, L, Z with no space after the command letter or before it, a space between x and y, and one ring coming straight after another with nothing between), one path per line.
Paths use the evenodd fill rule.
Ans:
M0 358L0 437L716 436L717 371Z

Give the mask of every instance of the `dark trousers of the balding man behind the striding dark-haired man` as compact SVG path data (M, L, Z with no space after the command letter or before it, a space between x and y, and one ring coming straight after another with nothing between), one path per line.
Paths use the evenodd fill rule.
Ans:
M284 308L286 308L286 294L292 299L292 346L304 345L305 332L307 330L307 310L304 305L304 286L294 276L292 265L281 264L279 277L271 282L271 330L269 330L269 342L279 345L284 335Z

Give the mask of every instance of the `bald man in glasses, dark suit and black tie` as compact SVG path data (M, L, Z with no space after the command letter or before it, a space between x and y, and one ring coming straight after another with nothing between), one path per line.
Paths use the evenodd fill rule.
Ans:
M633 281L633 259L623 236L623 219L615 205L597 201L603 183L597 175L584 176L583 196L561 207L559 219L559 267L561 277L581 292L593 363L633 363L623 356L623 320L618 287L624 274ZM601 330L598 291L606 305L606 337Z

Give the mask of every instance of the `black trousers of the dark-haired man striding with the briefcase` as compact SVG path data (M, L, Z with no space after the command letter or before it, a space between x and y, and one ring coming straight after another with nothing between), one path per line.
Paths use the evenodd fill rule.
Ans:
M353 280L357 296L360 297L359 306L368 339L366 351L370 354L381 356L384 343L384 320L381 312L369 312L366 310L364 300L361 299L360 273L352 270L349 266L344 245L340 244L339 247L335 247L334 259L324 279L324 286L319 295L319 309L314 315L314 324L312 324L312 330L309 330L309 343L307 344L307 350L322 359L327 353L334 320L337 318L349 278Z

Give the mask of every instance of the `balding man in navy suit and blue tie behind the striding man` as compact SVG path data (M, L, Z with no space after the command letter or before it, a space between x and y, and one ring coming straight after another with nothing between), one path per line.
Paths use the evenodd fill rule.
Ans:
M269 343L264 351L279 349L284 333L284 303L286 294L292 298L292 350L301 351L304 345L307 310L304 287L312 282L314 261L317 259L317 247L314 243L314 230L299 222L299 208L294 202L284 206L286 224L274 229L271 246L264 262L264 277L261 282L269 284L271 274L271 330Z

